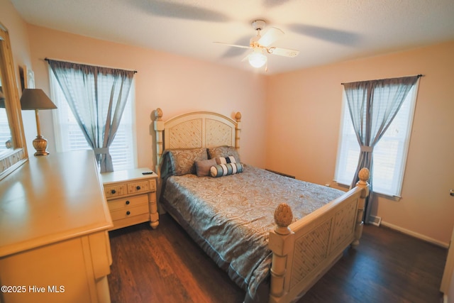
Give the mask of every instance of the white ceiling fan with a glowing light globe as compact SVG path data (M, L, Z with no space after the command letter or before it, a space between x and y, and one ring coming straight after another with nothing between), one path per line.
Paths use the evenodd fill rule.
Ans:
M233 46L234 48L250 48L252 50L252 53L243 58L243 61L247 59L251 66L258 68L266 64L267 56L265 54L279 55L284 57L296 57L299 54L299 50L290 50L288 48L277 48L275 46L270 46L277 39L281 38L284 35L284 32L279 28L272 27L268 29L264 35L260 35L260 31L265 28L265 25L266 23L263 20L253 21L252 26L255 31L257 31L257 35L253 38L250 38L249 46L222 42L215 43Z

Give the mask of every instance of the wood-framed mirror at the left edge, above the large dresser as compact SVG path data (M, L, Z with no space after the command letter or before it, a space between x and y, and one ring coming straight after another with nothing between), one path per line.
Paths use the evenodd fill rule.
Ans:
M9 33L0 23L0 180L28 159Z

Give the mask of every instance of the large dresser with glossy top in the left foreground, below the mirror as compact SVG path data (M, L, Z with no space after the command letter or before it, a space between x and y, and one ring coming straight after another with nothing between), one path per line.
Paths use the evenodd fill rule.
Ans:
M93 151L32 156L0 182L0 302L110 302L113 226Z

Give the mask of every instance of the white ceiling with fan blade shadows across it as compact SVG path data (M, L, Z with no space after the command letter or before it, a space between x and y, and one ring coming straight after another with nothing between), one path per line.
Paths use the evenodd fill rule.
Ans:
M453 0L11 0L37 26L248 70L251 22L284 31L268 74L454 40ZM267 28L262 31L265 33ZM263 71L264 69L262 69Z

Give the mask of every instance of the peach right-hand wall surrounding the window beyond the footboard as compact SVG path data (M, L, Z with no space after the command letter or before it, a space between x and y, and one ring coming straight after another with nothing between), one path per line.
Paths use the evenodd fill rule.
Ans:
M423 74L402 199L374 198L382 224L448 246L454 225L454 41L267 78L266 166L319 184L332 181L342 82ZM304 55L304 53L303 53Z

